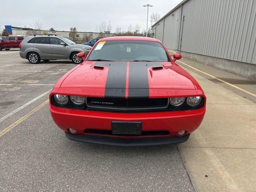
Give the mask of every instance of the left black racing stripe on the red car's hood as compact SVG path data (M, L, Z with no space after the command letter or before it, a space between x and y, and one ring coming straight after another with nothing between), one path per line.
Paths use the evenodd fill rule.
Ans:
M127 62L95 62L94 66L108 67L105 97L125 97Z

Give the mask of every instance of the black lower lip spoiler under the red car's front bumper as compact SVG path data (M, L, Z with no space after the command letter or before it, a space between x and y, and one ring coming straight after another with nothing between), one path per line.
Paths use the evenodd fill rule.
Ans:
M176 144L182 143L188 140L190 134L185 136L168 136L168 137L153 137L153 138L115 138L115 137L104 137L104 136L94 136L94 135L84 135L84 134L69 134L67 132L66 136L70 140L89 142L96 144L106 144L115 146L155 146L164 144Z

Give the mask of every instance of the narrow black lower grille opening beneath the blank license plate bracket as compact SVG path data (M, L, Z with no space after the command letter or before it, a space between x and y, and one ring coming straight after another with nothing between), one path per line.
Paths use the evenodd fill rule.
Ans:
M118 134L112 134L111 130L100 130L100 129L86 129L84 130L84 133L87 134L96 134L96 135L118 135ZM142 131L141 135L119 135L119 136L164 136L164 135L170 135L170 132L167 130L162 131Z

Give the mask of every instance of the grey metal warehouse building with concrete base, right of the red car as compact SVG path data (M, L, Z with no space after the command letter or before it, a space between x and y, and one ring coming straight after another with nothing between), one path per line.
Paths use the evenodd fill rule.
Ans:
M256 0L184 0L152 36L172 53L256 81Z

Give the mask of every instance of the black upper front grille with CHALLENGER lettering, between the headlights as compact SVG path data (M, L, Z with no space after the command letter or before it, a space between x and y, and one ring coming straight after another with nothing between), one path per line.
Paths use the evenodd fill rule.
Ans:
M92 108L145 110L168 107L168 98L98 98L86 97L86 104Z

